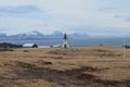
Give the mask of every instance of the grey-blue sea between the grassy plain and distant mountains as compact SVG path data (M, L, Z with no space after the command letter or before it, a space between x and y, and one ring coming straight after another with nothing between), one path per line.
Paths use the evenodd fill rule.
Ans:
M44 39L1 39L0 42L10 42L14 45L37 44L39 47L50 47L54 45L62 45L62 38L44 38ZM88 47L88 46L114 46L121 47L130 45L130 37L127 38L68 38L68 44L72 48Z

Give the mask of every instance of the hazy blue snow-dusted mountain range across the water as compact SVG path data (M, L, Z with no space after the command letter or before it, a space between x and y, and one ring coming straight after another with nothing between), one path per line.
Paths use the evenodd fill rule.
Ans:
M16 35L6 35L4 33L0 34L1 39L42 39L42 38L63 38L63 33L62 32L54 32L53 34L44 35L38 30L32 30L29 33L25 34L16 34ZM87 38L89 35L87 34L67 34L68 38Z

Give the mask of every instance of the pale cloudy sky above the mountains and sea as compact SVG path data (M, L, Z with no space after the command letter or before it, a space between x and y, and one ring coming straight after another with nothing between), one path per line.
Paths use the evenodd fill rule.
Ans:
M130 0L0 0L0 33L130 36Z

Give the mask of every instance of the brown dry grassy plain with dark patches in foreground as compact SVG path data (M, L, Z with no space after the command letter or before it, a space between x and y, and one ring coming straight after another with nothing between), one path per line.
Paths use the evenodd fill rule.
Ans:
M0 51L0 87L130 87L130 49L125 54L119 47Z

